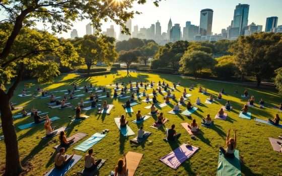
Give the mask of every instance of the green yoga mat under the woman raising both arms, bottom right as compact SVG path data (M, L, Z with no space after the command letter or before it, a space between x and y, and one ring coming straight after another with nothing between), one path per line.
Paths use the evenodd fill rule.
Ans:
M227 158L220 151L217 176L241 176L239 151L234 151L234 158Z

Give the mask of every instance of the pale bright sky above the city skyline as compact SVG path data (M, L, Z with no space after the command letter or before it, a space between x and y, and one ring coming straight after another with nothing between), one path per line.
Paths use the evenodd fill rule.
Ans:
M278 25L282 25L282 0L162 0L159 7L154 6L153 0L147 0L145 5L133 5L132 10L142 14L135 15L132 19L132 30L134 25L138 25L139 28L149 28L151 24L155 24L159 20L162 32L166 32L168 21L171 18L173 24L180 24L182 31L186 21L191 21L193 25L199 25L202 9L213 9L212 32L219 34L222 29L231 24L234 9L239 3L250 5L248 24L254 22L257 25L263 25L264 30L266 18L276 16L278 17ZM86 25L89 22L90 20L74 22L72 29L77 29L78 35L82 37L86 34ZM114 25L114 23L110 21L103 23L102 31L106 31L110 25ZM42 27L42 25L37 26L39 29ZM114 28L118 36L119 26L114 25ZM57 36L69 38L70 31L57 34Z

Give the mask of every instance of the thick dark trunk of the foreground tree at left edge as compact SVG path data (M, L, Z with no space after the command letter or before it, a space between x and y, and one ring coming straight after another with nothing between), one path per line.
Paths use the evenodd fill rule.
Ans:
M9 105L9 97L3 90L0 90L0 100L2 129L6 144L6 169L4 175L19 175L23 168L20 162L17 134L13 124L12 111Z

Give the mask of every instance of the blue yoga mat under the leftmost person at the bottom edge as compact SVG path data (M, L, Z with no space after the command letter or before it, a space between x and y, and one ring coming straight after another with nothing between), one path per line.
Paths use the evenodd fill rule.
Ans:
M69 157L69 155L68 155L68 157ZM82 158L82 156L75 154L73 159L70 160L63 168L56 169L54 167L48 173L46 173L45 176L62 176L64 174L66 174L66 172L70 168L72 168L81 158Z

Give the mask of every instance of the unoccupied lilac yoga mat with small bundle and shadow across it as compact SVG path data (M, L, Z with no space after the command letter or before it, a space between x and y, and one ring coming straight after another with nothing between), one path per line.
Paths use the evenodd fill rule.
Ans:
M187 148L186 145L187 144L180 145L178 148L162 157L160 161L173 169L177 169L181 163L190 158L199 149L195 146Z

